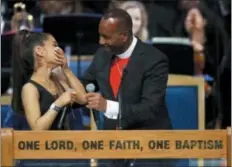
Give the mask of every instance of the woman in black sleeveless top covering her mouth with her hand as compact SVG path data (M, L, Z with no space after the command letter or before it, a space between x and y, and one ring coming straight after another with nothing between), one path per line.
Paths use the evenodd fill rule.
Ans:
M65 125L58 127L62 109L75 102L86 103L85 89L67 67L56 40L47 33L23 30L13 46L13 110L26 116L32 130L66 129ZM67 82L52 74L58 66Z

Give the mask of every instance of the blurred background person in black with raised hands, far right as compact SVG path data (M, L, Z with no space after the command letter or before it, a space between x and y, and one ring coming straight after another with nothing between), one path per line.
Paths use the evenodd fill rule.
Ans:
M216 128L226 128L231 125L228 119L231 118L231 98L227 93L231 90L231 75L230 70L227 70L229 68L225 67L225 62L230 59L230 41L223 20L204 4L199 3L188 10L185 30L192 39L195 58L197 58L196 74L208 73L214 77L212 88L207 82L205 84L206 95L212 95L214 106L211 111L207 110L207 115L211 115L213 121L216 119L214 121ZM225 76L227 77L224 78ZM210 124L208 123L208 126L212 126Z

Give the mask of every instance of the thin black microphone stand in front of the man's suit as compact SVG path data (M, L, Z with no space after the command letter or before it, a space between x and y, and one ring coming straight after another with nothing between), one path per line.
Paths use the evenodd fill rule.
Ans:
M123 73L122 73L122 77L121 77L121 86L122 86L122 82L123 79L125 77L125 75L127 74L127 69L126 66L123 67ZM122 105L123 105L123 100L122 100L122 87L120 86L119 89L119 93L118 93L118 103L119 103L119 111L118 111L118 130L122 130Z

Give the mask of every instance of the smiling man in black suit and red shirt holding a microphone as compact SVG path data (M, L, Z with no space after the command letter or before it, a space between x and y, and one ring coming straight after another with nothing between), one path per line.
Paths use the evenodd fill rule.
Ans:
M108 11L100 21L99 34L103 47L96 52L83 83L94 83L101 93L87 93L87 107L104 112L105 130L119 125L119 108L122 129L171 129L165 105L167 57L133 36L132 20L124 10Z

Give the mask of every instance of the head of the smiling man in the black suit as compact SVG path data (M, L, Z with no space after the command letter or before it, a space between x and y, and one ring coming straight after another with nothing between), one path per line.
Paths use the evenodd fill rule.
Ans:
M132 20L122 9L109 10L99 24L99 43L114 54L125 52L133 39Z

